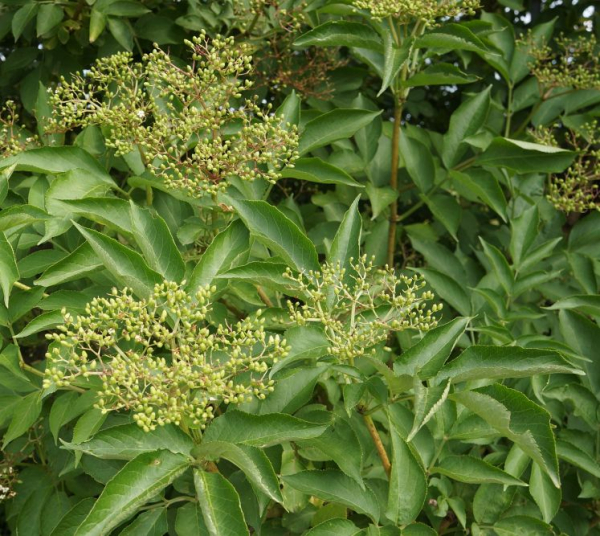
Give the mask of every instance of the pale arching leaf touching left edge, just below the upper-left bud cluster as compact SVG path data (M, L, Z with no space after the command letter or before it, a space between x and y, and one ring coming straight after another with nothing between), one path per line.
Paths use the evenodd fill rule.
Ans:
M97 181L114 186L114 181L91 154L79 147L40 147L30 149L0 162L0 169L17 165L18 171L57 174L82 169Z

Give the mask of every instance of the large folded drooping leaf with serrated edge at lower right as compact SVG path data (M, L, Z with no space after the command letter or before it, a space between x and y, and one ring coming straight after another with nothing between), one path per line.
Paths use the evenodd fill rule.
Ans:
M560 487L556 445L546 410L524 394L499 384L450 396L519 445Z

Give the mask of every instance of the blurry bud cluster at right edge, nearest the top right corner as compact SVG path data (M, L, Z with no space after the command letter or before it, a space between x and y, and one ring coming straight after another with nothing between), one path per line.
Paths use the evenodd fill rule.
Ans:
M560 37L557 48L529 39L532 74L544 92L553 88L600 89L600 49L594 34Z

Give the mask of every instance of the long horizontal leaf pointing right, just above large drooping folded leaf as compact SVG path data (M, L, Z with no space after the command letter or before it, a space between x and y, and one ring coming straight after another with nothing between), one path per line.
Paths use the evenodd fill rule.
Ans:
M583 374L559 354L519 346L471 346L435 378L453 383L471 380L528 378L536 374Z

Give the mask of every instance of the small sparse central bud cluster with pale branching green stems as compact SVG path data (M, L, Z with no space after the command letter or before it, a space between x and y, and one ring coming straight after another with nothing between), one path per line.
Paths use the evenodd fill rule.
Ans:
M365 355L391 331L435 327L433 315L442 309L441 304L428 307L434 296L423 291L421 276L396 275L366 256L352 262L350 270L325 264L320 272L288 271L286 277L306 296L304 303L288 302L292 321L322 326L329 353L340 361Z

